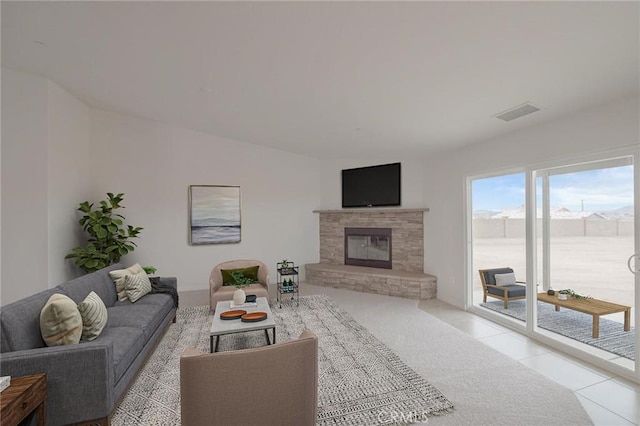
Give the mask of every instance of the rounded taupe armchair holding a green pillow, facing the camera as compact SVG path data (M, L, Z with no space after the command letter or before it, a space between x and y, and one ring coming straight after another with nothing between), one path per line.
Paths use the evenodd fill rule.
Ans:
M244 287L243 290L247 294L255 294L257 297L266 297L269 299L269 268L259 260L230 260L216 265L211 270L209 276L209 309L216 310L216 304L223 300L233 300L233 293L236 291L234 286L223 286L221 269L238 269L248 268L251 266L259 266L258 268L258 284L251 284Z

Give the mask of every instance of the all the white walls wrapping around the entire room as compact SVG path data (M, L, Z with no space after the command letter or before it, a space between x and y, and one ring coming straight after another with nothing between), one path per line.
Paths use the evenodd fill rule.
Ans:
M3 69L0 304L72 278L63 258L80 243L75 209L85 199L124 192L127 222L145 230L123 262L154 265L177 276L182 290L206 289L211 268L228 259L258 258L274 268L282 258L317 262L312 211L340 208L340 170L401 161L402 207L431 209L425 272L438 277L439 298L463 306L466 177L638 147L638 104L635 97L603 105L426 162L320 161L88 110L47 80ZM193 184L241 186L240 244L188 244Z

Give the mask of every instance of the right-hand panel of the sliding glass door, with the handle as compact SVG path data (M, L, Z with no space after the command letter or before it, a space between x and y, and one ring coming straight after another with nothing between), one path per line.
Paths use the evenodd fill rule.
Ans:
M538 265L544 291L539 328L588 345L603 358L633 368L635 253L633 158L537 170ZM568 307L555 306L566 291ZM563 297L563 296L560 296Z

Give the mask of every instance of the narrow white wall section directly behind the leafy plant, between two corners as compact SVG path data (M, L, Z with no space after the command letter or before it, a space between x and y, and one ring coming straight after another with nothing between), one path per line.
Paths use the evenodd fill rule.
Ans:
M48 100L48 267L53 287L79 273L64 256L86 240L76 209L91 194L91 170L89 108L51 82Z

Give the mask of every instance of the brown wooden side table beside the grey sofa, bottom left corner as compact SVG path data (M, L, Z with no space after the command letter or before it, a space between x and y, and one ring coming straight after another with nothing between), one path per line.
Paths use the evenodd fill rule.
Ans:
M14 426L36 412L38 426L46 420L47 376L12 377L8 388L0 392L0 418L3 426Z

